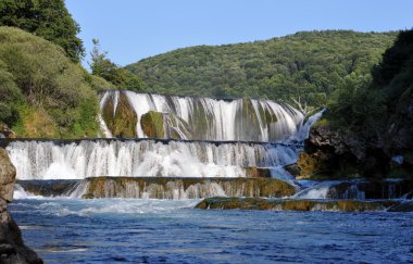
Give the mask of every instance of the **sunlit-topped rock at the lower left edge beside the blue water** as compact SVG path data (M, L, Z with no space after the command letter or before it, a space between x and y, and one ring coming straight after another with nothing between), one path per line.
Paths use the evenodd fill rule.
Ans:
M0 263L42 263L24 246L22 232L8 211L13 199L15 168L4 149L0 149Z

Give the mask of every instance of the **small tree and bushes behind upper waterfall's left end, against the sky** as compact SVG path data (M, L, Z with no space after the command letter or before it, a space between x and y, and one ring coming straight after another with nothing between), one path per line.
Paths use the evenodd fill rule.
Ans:
M93 50L91 54L90 68L93 75L102 77L117 89L128 89L139 91L143 87L143 83L127 70L117 66L107 58L108 52L101 52L99 40L93 39Z

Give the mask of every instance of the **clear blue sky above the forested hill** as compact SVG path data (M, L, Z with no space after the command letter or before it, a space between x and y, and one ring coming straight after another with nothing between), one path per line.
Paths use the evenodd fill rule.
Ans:
M264 40L313 29L413 27L412 0L66 0L91 39L120 65L196 45Z

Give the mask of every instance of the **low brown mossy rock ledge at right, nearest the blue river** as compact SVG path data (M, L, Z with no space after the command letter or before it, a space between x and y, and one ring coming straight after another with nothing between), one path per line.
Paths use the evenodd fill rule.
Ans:
M203 210L266 210L266 211L389 211L412 212L413 201L400 200L281 200L264 198L208 198L196 205Z

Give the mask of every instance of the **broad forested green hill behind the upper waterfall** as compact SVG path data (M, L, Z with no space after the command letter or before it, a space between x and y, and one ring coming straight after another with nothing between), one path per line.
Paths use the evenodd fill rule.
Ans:
M178 49L126 66L146 91L252 97L310 105L340 87L371 79L397 33L302 32L265 41Z

